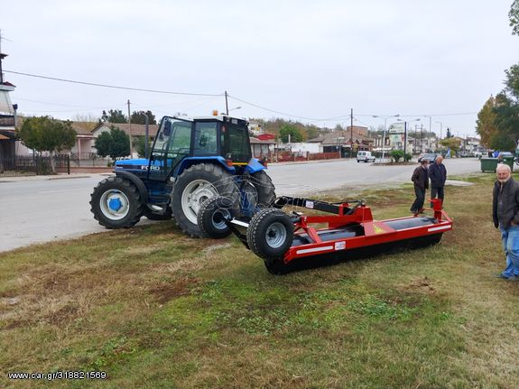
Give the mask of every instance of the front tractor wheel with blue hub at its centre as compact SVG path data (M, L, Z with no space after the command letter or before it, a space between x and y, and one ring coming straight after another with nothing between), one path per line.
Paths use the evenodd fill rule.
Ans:
M101 226L128 228L141 219L143 203L131 181L109 177L99 182L90 195L90 211Z

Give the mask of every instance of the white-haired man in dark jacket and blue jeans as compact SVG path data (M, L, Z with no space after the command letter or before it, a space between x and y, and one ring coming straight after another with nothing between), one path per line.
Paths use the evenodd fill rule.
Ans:
M501 163L496 169L492 216L501 231L506 268L497 274L506 280L519 280L519 182L514 181L510 166Z

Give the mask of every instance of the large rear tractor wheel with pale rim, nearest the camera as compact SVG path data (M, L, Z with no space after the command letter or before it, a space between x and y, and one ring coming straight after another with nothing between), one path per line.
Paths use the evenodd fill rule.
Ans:
M186 169L175 181L171 194L173 218L181 230L192 237L202 237L197 216L207 199L224 196L234 209L239 208L239 190L234 177L212 163L199 163Z

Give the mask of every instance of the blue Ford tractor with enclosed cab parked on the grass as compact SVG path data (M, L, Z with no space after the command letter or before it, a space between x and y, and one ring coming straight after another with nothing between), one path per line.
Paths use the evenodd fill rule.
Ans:
M174 218L189 236L230 234L218 215L251 218L275 199L265 163L252 157L246 120L164 116L146 159L116 162L115 177L99 182L90 206L100 225L133 227L143 216ZM202 204L218 197L223 210L202 231ZM214 206L214 204L213 204Z

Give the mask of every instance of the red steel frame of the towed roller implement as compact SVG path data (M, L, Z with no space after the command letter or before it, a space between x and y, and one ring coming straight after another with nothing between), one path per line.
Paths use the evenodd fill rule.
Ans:
M433 203L433 208L427 208L427 210L433 211L437 223L399 230L395 230L392 227L387 226L385 223L393 220L412 219L416 218L417 215L407 218L392 218L377 221L373 219L371 208L364 204L354 208L350 215L346 215L348 210L351 210L351 208L348 203L343 203L338 206L338 215L302 216L301 220L294 224L294 232L296 234L306 233L313 243L292 246L284 255L283 262L288 264L294 259L305 256L325 255L341 250L364 247L366 245L381 245L415 237L431 236L452 229L452 219L450 219L447 213L441 208L441 200L431 199L431 202ZM328 227L320 229L310 227L312 224L323 223L327 223ZM351 224L362 224L365 235L339 238L323 242L318 234L318 231L345 227Z

